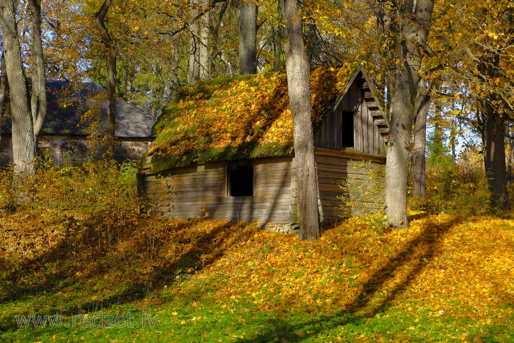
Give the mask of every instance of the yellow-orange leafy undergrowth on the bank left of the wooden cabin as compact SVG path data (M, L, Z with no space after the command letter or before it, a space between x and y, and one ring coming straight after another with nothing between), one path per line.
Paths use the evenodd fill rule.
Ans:
M14 183L12 170L1 172L0 239L8 248L0 255L20 254L17 262L28 269L63 259L75 267L97 260L140 224L137 172L133 162L114 161L38 166Z

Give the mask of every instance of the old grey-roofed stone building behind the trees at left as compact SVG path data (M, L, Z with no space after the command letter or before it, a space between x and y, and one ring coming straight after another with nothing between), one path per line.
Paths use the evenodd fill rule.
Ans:
M101 155L108 111L104 89L94 83L47 80L46 91L47 114L38 137L39 153L56 164L80 163L86 157ZM0 124L1 165L12 162L8 94L4 110ZM117 98L116 159L140 160L154 139L152 124L143 110Z

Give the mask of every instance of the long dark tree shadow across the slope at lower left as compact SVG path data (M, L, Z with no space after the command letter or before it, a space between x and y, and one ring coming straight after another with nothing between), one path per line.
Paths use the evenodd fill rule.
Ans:
M183 221L178 226L164 228L158 238L164 239L166 236L173 236L175 242L161 242L155 248L166 248L166 245L180 245L183 247L179 257L169 264L152 265L144 271L138 270L138 275L132 275L132 279L125 282L117 282L109 286L109 291L115 289L114 293L107 297L101 296L101 291L95 288L100 283L109 283L101 278L101 273L96 270L81 278L75 276L75 270L69 272L60 270L59 273L51 274L45 278L44 282L25 287L11 287L6 296L0 303L31 303L30 313L2 313L0 312L0 329L17 329L15 315L62 315L70 316L88 312L97 312L110 309L113 305L120 305L137 300L141 300L149 295L150 292L159 291L166 284L180 281L181 276L193 274L197 270L205 268L215 263L223 256L225 251L234 244L246 241L249 235L253 234L258 228L245 229L231 222L212 222L210 230L194 235L185 234L191 230L193 225L203 223L203 220ZM92 242L91 244L97 244ZM62 248L62 247L61 247ZM160 258L160 261L165 259ZM146 261L149 262L149 261ZM128 269L130 272L130 269ZM128 274L125 271L125 274ZM177 276L179 276L177 278ZM128 276L130 278L130 276ZM93 282L93 284L88 283ZM14 284L15 285L15 284ZM67 298L60 295L61 292L67 293ZM98 294L98 299L94 294ZM87 298L86 298L87 297ZM41 299L46 299L41 300ZM58 304L63 301L62 304ZM66 302L66 303L64 303ZM12 305L12 304L11 304ZM13 306L16 307L15 305ZM9 312L9 311L6 311Z

